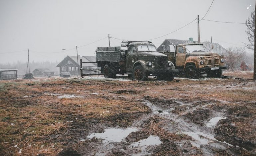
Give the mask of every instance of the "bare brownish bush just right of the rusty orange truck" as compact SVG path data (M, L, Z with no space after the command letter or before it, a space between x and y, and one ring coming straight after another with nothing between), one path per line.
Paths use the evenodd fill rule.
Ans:
M239 70L241 62L246 58L245 48L229 47L225 57L228 69Z

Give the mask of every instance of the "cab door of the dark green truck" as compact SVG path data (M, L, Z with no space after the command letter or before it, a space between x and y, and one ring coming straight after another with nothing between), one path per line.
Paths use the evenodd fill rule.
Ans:
M126 68L128 72L133 70L133 64L137 61L137 52L135 46L131 45L128 47L127 50L127 61L126 61Z

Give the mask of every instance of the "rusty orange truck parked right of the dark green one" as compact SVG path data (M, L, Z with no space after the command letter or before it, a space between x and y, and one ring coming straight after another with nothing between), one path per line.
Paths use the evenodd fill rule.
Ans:
M175 62L176 69L183 71L188 78L198 78L200 73L206 72L208 77L220 77L224 66L224 56L205 51L203 44L170 45L169 57Z

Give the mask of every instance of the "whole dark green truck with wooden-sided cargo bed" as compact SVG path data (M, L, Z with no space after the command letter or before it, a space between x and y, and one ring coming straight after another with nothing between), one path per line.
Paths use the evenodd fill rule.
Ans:
M122 41L121 47L98 47L96 63L106 78L125 73L133 79L144 81L148 76L159 80L173 80L178 72L167 55L157 52L152 42ZM124 49L123 49L124 48Z

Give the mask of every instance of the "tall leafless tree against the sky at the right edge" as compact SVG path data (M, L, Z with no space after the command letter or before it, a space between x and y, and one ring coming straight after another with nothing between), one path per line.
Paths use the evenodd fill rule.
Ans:
M245 47L254 50L254 23L255 23L255 10L251 13L251 16L245 22L247 30L245 31L249 43L244 43Z

